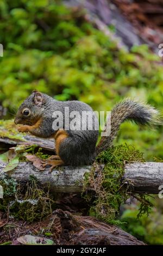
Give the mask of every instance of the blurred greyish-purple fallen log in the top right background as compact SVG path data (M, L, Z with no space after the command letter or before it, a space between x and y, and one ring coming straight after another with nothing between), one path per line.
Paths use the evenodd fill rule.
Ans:
M122 1L67 0L64 2L65 5L70 7L82 7L86 9L86 19L88 19L89 22L92 22L93 25L95 25L95 27L97 27L99 30L103 31L106 36L111 38L113 41L116 41L118 48L125 47L130 49L133 45L147 44L156 54L158 54L159 42L156 44L155 41L149 39L148 34L141 31L141 26L134 26L134 23L131 23L129 19L127 19L127 15L124 16L124 14L121 13L121 5L124 5L124 3L121 3ZM126 6L127 5L128 3L126 2ZM123 13L127 14L128 10L129 8L126 7L126 11ZM131 16L133 17L134 9L131 8L130 10L133 10L133 13L131 13ZM139 13L141 13L141 11L139 11ZM142 15L140 16L142 17ZM138 16L135 16L135 19L136 21L139 20ZM114 25L115 27L114 34L108 29L108 26L110 25ZM157 36L158 39L162 38L160 31L156 31L155 29L152 30L152 32Z

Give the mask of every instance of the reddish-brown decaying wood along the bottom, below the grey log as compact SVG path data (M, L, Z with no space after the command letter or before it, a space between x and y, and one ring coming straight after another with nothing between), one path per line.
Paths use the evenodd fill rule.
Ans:
M74 216L58 209L52 219L59 245L145 245L121 228L90 216Z

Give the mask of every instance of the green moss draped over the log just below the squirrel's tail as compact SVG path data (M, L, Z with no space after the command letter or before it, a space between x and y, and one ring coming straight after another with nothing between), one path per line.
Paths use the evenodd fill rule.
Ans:
M116 220L120 205L130 197L132 191L131 180L121 182L124 164L143 161L145 161L143 154L127 144L110 148L96 158L91 173L86 174L84 181L83 195L90 202L91 216L109 223L120 224L120 221ZM151 206L145 197L141 202L139 215L147 212Z

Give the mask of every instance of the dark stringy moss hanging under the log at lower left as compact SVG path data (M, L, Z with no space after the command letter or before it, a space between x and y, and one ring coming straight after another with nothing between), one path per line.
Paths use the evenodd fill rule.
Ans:
M44 191L34 176L26 184L18 184L5 176L0 179L4 189L4 198L0 199L0 209L10 211L10 215L19 220L33 222L52 214L54 200L49 189Z

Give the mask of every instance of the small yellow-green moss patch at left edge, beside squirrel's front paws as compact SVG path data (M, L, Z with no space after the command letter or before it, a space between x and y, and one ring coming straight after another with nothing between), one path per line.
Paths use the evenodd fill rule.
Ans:
M26 141L22 133L19 133L14 124L14 120L0 120L0 137L18 139L19 141Z

